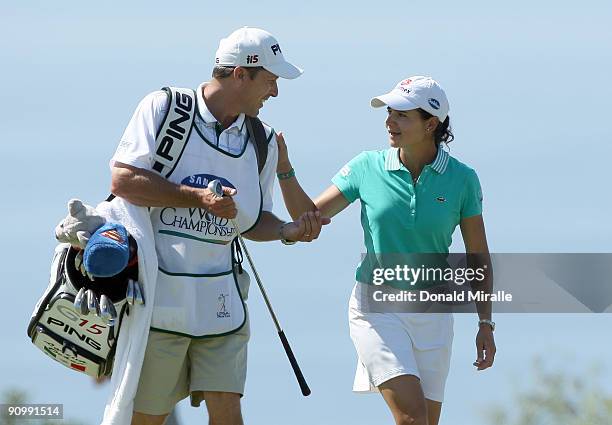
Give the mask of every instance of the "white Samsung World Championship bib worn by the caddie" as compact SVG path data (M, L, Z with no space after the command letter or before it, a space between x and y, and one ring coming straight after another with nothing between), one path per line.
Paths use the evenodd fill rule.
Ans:
M199 116L176 169L173 183L206 188L209 181L237 190L234 221L202 208L151 208L159 273L151 328L191 337L220 336L240 329L246 311L232 267L231 242L237 231L255 226L262 195L251 141L241 154L224 152L198 130Z

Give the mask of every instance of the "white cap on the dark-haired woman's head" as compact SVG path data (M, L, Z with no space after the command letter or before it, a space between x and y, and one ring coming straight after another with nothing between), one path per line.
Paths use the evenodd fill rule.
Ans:
M444 122L448 116L448 99L440 84L431 77L416 75L397 83L387 94L370 101L374 108L388 105L397 111L421 108Z

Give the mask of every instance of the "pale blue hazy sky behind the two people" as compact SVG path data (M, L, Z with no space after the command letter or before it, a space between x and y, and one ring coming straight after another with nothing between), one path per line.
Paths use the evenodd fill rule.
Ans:
M66 417L99 423L108 387L55 364L26 336L47 285L53 228L70 198L106 197L108 160L139 100L208 80L219 40L245 25L273 33L305 70L279 82L260 117L285 133L310 195L359 152L388 146L385 112L369 107L371 97L431 75L450 101L450 153L480 178L491 252L610 252L611 18L610 3L593 0L0 1L0 391L19 387L37 402L63 403ZM278 187L274 210L289 218ZM313 393L300 395L252 285L246 423L391 423L379 395L351 392L347 302L363 251L358 204L315 243L249 249ZM463 249L456 232L451 251ZM487 406L512 406L513 385L528 385L538 355L575 374L599 362L612 393L609 314L494 315L498 352L480 372L472 366L476 320L455 315L441 425L484 424ZM206 415L185 403L179 412L185 423Z

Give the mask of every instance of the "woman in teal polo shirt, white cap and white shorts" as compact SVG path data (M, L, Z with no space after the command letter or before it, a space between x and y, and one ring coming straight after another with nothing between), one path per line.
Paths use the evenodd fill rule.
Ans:
M466 252L480 254L490 267L478 177L440 146L453 140L444 90L430 77L415 76L372 99L371 105L387 107L391 147L357 155L314 202L300 187L279 134L277 172L291 216L311 211L319 219L333 217L359 199L366 258L447 254L459 225ZM397 424L436 425L450 364L452 313L364 311L360 294L372 280L369 263L364 260L357 269L349 304L351 338L359 357L353 390L380 391ZM493 364L495 324L490 303L477 303L477 309L481 320L473 365L484 370Z

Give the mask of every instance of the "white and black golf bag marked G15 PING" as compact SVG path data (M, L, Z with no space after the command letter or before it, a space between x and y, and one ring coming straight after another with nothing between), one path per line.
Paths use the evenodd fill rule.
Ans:
M34 308L28 336L43 353L70 369L93 377L110 375L118 329L126 308L125 295L123 299L108 297L114 310L121 312L110 323L99 308L86 314L77 310L75 297L81 289L81 293L86 288L90 290L96 301L101 297L96 281L90 281L76 270L77 253L69 244L56 248L49 285ZM120 281L116 284L122 286Z

